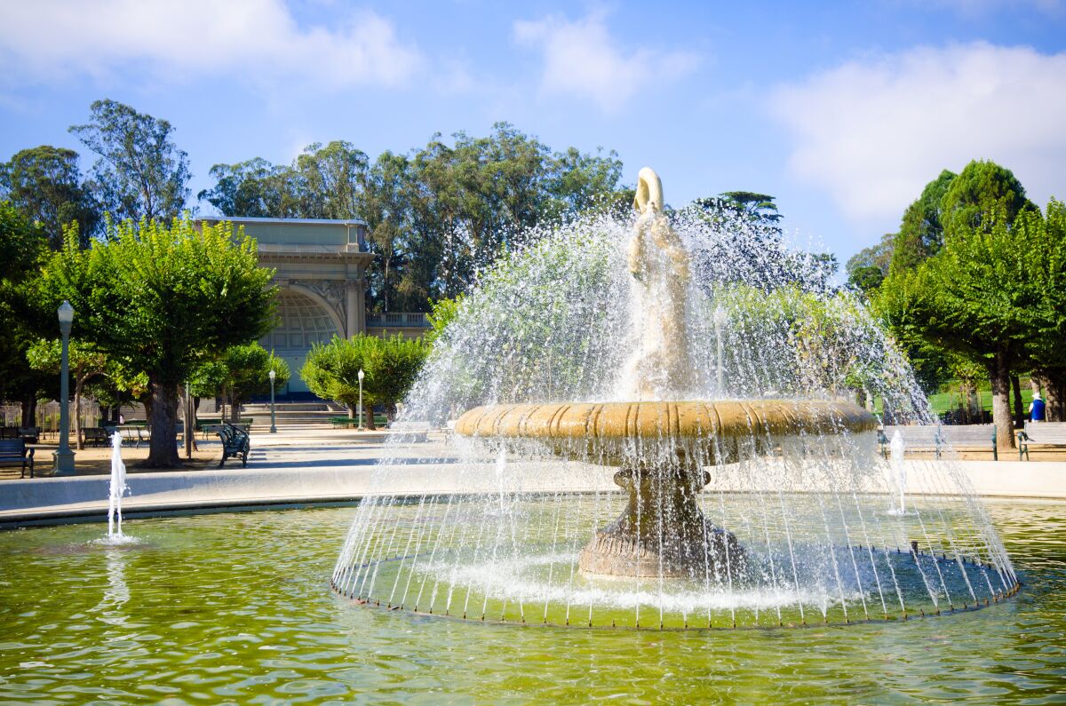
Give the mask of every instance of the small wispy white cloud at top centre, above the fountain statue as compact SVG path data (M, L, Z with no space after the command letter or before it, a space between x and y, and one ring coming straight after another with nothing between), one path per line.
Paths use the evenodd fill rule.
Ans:
M684 51L642 47L625 53L604 19L594 12L572 22L553 15L514 23L518 43L544 54L542 93L574 95L613 112L646 86L674 80L698 63L695 54Z

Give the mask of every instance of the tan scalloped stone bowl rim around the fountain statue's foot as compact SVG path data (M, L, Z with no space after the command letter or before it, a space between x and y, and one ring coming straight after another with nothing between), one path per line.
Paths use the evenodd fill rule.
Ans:
M861 433L876 418L839 400L547 402L474 407L455 422L461 436L604 439Z

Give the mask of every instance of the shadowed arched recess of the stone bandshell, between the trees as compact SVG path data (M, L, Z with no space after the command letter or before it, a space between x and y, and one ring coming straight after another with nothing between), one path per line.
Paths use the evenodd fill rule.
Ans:
M279 395L308 392L300 376L307 352L314 343L325 343L341 335L334 318L324 306L303 292L281 289L277 294L278 326L264 336L260 343L268 351L285 358L292 373Z

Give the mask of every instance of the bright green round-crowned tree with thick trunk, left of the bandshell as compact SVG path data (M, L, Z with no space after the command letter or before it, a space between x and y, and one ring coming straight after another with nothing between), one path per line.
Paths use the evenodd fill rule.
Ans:
M148 376L151 427L147 465L178 465L177 388L197 364L268 333L273 270L232 225L180 220L109 224L108 242L81 251L68 239L49 263L46 307L66 299L72 335Z

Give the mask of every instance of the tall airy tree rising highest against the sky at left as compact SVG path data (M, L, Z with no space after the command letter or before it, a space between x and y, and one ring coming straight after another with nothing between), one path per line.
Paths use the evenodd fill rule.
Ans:
M189 156L172 141L171 124L109 99L90 110L90 122L70 132L99 156L92 173L103 208L120 220L181 215L189 198Z

